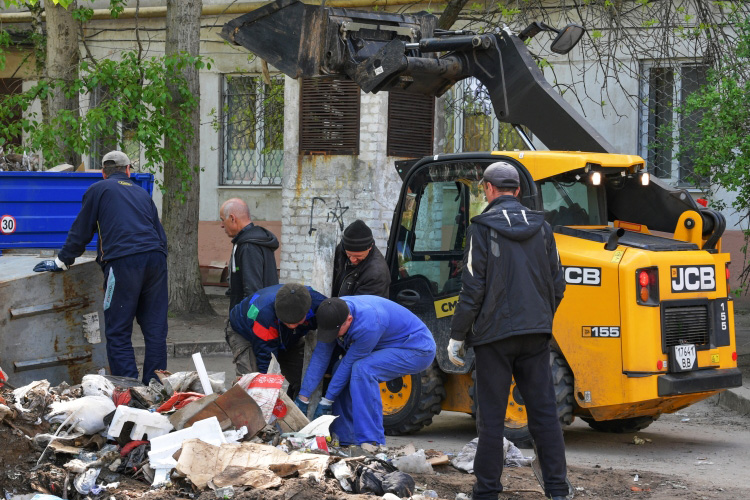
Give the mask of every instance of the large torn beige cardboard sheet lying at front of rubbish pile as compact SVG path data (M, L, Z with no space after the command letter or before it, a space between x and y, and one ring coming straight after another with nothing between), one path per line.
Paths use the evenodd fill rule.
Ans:
M259 484L273 484L262 474L250 473L247 476L232 469L223 475L230 467L244 471L267 470L272 467L283 470L284 475L290 474L288 466L296 468L300 477L313 477L321 480L328 467L329 457L312 453L293 452L287 455L275 446L257 443L222 444L214 446L199 439L185 441L182 445L180 458L177 460L177 472L187 476L198 488L205 488L209 481L224 483L229 477L241 477L243 480L255 481ZM284 467L280 467L284 465ZM237 479L239 481L239 479ZM226 483L225 485L228 485ZM239 483L234 485L239 486ZM271 487L271 486L264 486Z

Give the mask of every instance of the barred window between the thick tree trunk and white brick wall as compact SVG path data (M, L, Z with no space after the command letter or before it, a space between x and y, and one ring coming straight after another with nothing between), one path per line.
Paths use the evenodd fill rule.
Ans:
M222 106L224 185L277 186L284 157L284 77L225 75Z

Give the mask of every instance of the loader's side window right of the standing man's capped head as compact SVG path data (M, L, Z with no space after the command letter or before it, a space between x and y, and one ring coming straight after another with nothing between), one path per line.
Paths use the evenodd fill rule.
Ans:
M540 183L544 218L555 226L606 225L603 217L604 188L584 182L562 182L556 179Z

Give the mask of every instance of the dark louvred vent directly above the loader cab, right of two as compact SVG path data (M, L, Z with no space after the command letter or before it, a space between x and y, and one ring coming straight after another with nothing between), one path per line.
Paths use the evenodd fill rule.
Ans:
M388 156L432 155L435 98L392 90L388 93Z

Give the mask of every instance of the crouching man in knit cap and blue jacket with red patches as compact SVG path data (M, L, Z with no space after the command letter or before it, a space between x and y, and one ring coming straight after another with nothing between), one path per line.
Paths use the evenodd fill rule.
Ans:
M273 285L245 297L229 313L232 329L252 344L260 373L267 373L271 355L276 357L292 399L302 381L302 340L318 327L315 313L325 298L309 286Z

